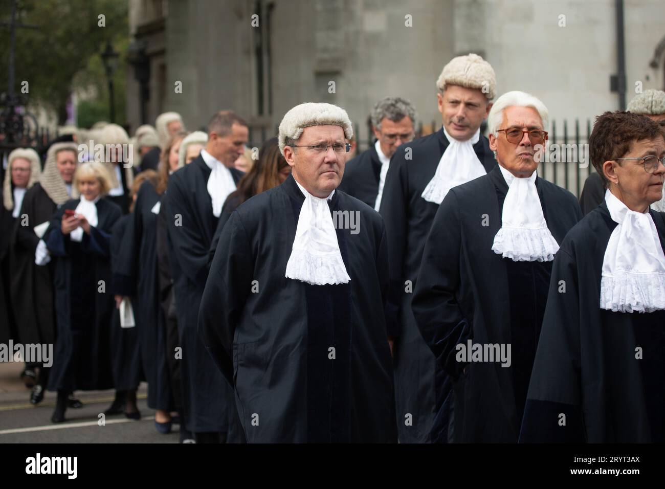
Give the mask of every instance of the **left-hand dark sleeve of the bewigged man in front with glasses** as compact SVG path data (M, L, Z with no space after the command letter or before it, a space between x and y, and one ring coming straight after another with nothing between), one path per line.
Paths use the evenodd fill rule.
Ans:
M235 386L233 336L251 291L253 276L251 243L238 213L234 212L219 237L198 321L203 344L232 386Z

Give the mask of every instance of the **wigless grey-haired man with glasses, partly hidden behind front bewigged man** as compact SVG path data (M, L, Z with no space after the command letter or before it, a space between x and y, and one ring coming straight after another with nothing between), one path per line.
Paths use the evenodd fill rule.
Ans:
M387 96L376 103L371 120L376 142L348 161L339 190L378 211L390 158L400 144L414 138L416 109L404 98Z

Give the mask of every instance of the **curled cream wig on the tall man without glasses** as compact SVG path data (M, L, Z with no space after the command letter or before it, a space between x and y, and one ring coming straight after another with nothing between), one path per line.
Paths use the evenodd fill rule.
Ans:
M439 90L445 90L449 84L480 90L484 88L487 100L492 100L496 94L497 76L487 61L471 53L453 58L444 67L436 86Z

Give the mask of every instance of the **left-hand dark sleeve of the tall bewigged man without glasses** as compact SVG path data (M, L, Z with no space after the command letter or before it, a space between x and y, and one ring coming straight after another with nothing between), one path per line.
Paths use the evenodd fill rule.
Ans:
M381 214L388 237L388 298L386 300L386 330L388 336L400 335L400 306L404 293L404 251L408 207L408 172L404 151L396 152L390 161L381 197Z

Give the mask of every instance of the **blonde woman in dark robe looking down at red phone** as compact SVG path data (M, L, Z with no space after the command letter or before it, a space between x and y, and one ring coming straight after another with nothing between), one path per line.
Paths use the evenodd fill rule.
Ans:
M113 387L108 339L114 300L106 287L111 228L122 210L106 198L111 184L103 164L80 164L73 185L80 198L55 212L43 238L55 259L57 341L49 390L58 392L58 401L53 422L65 420L71 391Z

